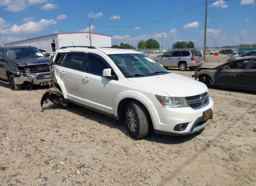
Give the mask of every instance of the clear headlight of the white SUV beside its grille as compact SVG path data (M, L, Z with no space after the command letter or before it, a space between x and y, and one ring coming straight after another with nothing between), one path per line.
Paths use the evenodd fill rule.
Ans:
M160 104L164 107L188 107L188 103L185 98L175 98L175 97L166 97L166 96L158 96L156 95L156 99L160 102Z

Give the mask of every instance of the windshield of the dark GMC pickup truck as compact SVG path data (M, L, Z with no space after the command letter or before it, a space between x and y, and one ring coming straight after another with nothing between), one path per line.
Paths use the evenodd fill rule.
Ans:
M44 57L44 54L40 52L37 48L12 48L6 50L6 56L9 60L19 59L19 58L34 58L34 57Z

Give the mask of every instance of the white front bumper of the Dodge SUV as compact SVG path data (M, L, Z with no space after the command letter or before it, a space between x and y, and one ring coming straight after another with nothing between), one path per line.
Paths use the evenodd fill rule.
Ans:
M154 130L157 134L172 134L172 135L189 135L197 132L212 121L212 116L206 121L202 121L203 112L212 109L213 100L207 106L200 109L191 107L184 108L166 108L162 106L151 105L150 112ZM183 131L175 131L174 127L177 124L187 123L186 129Z

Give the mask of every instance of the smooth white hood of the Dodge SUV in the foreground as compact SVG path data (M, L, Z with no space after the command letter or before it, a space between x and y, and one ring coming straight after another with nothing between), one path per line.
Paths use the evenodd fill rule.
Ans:
M187 97L208 91L205 84L178 74L128 78L131 82L165 92L171 97Z

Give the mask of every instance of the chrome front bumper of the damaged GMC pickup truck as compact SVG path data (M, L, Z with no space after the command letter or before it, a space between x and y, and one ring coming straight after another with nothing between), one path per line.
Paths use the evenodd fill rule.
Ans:
M52 80L52 74L50 72L41 72L29 76L15 77L15 84L24 84L24 82L29 82L32 84L46 85Z

